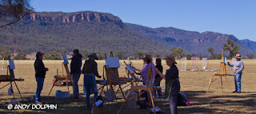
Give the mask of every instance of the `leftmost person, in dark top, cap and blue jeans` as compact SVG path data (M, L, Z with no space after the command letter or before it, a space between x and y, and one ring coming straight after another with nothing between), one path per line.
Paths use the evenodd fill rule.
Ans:
M46 78L46 71L49 70L42 62L43 54L42 52L38 52L35 56L37 59L34 61L35 79L37 81L37 91L35 92L36 104L42 104L40 94L42 92L43 82Z

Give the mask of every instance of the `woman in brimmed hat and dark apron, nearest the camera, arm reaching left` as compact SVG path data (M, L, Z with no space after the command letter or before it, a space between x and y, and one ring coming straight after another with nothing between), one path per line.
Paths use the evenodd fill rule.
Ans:
M178 113L177 100L178 93L181 88L178 80L178 68L175 64L177 64L175 57L173 55L169 55L166 57L166 65L170 66L170 69L166 70L166 75L163 75L158 69L156 69L156 73L158 73L160 77L166 80L166 92L164 98L169 100L170 112L172 114Z

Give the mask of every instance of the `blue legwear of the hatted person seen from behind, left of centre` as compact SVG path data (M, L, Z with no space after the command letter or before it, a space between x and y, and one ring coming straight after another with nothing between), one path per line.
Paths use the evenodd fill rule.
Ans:
M84 77L84 88L86 88L86 106L90 108L90 93L94 92L94 99L98 96L95 76ZM95 89L96 88L96 89Z

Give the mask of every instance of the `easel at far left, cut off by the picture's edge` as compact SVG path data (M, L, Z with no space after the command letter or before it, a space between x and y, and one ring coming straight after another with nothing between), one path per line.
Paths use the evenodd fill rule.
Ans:
M2 82L2 81L10 81L10 83L8 83L7 85L12 85L12 82L14 82L16 88L18 89L18 85L16 84L15 81L24 81L24 79L22 79L22 78L16 79L14 77L14 69L15 69L14 61L9 60L9 65L7 66L7 75L0 75L0 82ZM10 73L10 75L8 73ZM2 86L2 88L5 88L7 85ZM2 89L2 88L0 88L0 89ZM18 93L22 97L22 94L19 91L19 89L18 89ZM13 93L13 95L14 95L14 93ZM22 97L22 101L24 101L23 97Z

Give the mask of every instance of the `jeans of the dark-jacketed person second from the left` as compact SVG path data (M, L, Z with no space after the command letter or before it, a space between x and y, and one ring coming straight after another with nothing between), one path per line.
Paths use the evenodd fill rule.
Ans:
M73 96L79 97L79 89L78 89L78 81L80 78L80 74L74 73L72 76L72 85L73 85Z

